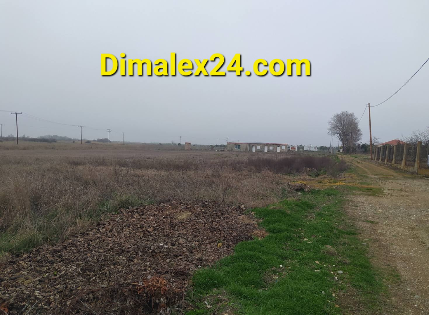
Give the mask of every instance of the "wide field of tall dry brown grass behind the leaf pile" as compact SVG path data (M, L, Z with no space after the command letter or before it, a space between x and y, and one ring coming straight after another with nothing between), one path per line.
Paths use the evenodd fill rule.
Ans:
M339 165L329 157L259 156L169 145L2 142L0 252L64 239L128 206L166 200L266 206L287 196L295 170Z

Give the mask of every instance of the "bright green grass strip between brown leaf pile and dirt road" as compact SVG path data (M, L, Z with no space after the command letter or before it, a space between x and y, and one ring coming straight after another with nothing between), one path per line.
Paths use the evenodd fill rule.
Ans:
M241 242L231 256L197 271L191 294L196 309L188 315L225 309L239 314L340 314L341 294L360 300L356 304L364 301L367 309L377 308L384 286L366 246L344 223L343 194L312 191L301 200L281 201L275 209L253 209L269 235Z

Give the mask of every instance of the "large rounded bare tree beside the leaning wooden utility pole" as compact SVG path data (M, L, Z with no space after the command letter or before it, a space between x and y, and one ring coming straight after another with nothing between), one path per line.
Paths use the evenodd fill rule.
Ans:
M328 121L328 133L337 136L341 141L343 152L352 152L356 143L362 139L362 130L354 113L343 111L332 116Z

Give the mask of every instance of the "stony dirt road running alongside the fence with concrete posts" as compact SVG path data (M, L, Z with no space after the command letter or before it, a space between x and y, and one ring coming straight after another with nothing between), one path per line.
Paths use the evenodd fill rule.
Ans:
M372 263L390 277L385 314L429 314L429 178L344 159L356 166L350 181L383 188L378 196L350 197L346 211L368 244Z

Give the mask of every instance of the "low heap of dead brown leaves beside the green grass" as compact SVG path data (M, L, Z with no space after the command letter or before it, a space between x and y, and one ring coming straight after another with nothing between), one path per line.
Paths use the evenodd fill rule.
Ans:
M85 233L4 260L0 314L181 313L193 271L257 233L243 206L171 201L121 209Z

